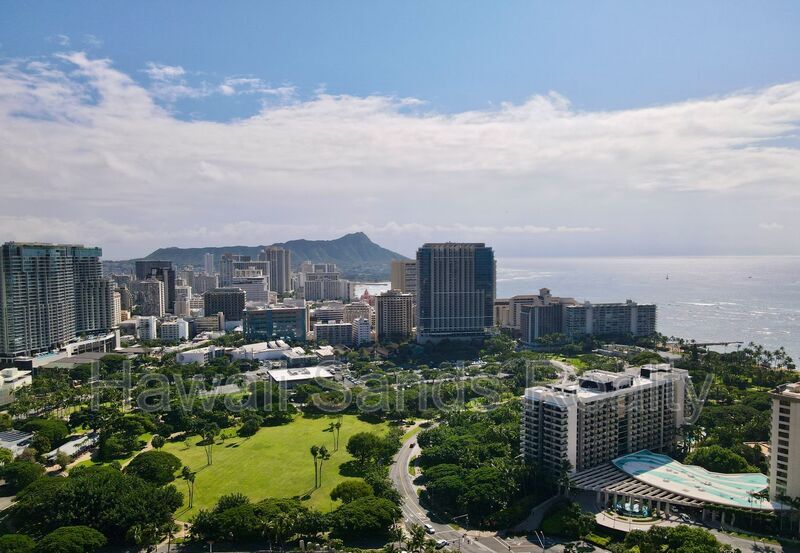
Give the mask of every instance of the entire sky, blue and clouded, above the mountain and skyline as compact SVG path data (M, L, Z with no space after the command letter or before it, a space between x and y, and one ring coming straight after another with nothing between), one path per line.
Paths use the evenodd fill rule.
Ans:
M800 2L0 0L0 242L800 254Z

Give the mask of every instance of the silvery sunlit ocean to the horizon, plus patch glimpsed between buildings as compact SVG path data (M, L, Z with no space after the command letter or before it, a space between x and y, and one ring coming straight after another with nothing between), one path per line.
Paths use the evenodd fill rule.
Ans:
M388 283L362 286L376 294ZM498 258L497 297L539 288L579 301L655 303L662 334L783 346L800 361L798 256Z

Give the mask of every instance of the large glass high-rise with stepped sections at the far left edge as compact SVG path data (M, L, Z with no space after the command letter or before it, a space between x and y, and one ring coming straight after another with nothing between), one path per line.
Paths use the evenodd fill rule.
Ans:
M63 346L114 326L100 248L8 242L0 249L0 359Z

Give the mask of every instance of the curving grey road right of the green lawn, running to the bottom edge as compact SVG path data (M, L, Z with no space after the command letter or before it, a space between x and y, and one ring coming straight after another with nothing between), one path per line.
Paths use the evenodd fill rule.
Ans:
M491 532L455 530L448 524L437 522L435 517L431 519L431 514L420 505L417 486L414 485L413 477L408 472L409 463L419 455L419 452L417 436L414 435L403 443L389 470L389 477L403 498L403 522L406 529L410 528L412 524L430 524L436 530L436 533L430 536L431 538L445 539L450 542L449 549L463 553L539 553L542 551L538 542L533 541L535 540L533 537L531 539L526 537L504 539ZM551 541L547 545L548 552L563 551L561 544Z

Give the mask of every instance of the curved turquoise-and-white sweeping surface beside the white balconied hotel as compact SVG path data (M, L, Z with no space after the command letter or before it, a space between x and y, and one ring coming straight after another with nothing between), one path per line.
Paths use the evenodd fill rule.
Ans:
M613 463L645 484L701 501L746 509L781 507L752 496L769 487L767 477L761 473L720 474L648 450L618 457Z

